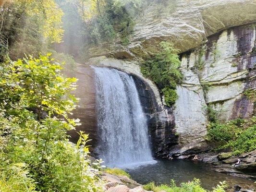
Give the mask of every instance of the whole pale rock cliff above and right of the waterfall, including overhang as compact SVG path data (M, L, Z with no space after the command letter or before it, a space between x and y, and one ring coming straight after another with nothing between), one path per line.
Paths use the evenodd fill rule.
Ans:
M253 22L254 0L180 0L160 7L152 3L137 20L130 46L93 48L87 64L133 74L155 156L185 158L210 149L205 141L207 106L218 110L223 121L255 114L255 95L246 94L256 89L256 29L248 24ZM162 104L157 86L140 72L139 60L158 50L160 41L171 41L181 50L184 80L173 108ZM83 104L79 110L78 118L86 110ZM81 129L96 135L96 127L87 128L83 121Z

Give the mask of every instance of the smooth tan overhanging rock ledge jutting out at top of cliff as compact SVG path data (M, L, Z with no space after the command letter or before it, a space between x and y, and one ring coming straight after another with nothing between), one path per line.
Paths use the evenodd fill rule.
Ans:
M137 60L170 41L180 52L196 48L223 29L256 21L254 0L166 0L151 3L135 21L131 44L94 47L91 57Z

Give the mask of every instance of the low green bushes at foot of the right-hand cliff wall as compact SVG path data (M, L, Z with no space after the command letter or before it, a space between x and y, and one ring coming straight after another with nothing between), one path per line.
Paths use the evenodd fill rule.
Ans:
M250 120L234 119L226 123L218 120L208 125L207 140L220 148L231 148L234 155L256 149L256 117Z

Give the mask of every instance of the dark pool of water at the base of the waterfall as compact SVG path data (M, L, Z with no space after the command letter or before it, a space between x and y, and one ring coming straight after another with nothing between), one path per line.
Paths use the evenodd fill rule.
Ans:
M205 189L212 189L219 181L226 180L230 187L235 184L256 189L252 180L234 177L224 173L218 173L203 162L191 160L157 160L156 164L145 165L137 168L126 169L132 179L138 183L146 184L154 181L157 184L169 184L174 179L177 184L198 178Z

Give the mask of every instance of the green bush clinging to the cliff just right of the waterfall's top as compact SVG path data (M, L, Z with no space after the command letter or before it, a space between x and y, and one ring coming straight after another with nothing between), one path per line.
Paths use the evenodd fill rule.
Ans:
M183 75L179 70L181 61L178 50L170 43L161 42L159 45L161 51L142 63L141 72L158 85L167 106L171 106L178 98L176 86L183 80Z

